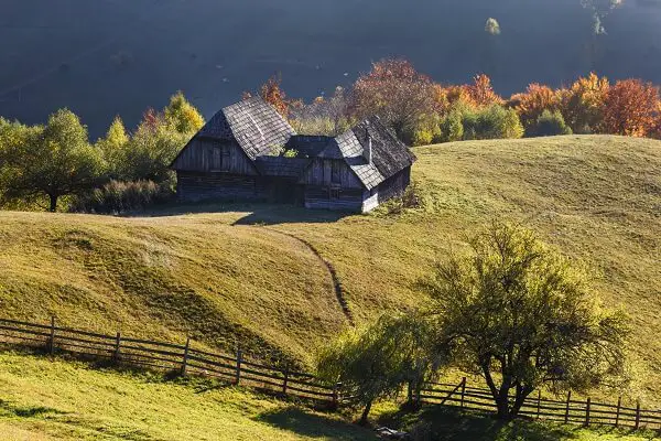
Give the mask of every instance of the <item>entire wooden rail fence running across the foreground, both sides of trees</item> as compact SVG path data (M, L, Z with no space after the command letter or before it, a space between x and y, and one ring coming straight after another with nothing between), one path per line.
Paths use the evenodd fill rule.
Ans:
M45 347L50 354L58 351L174 370L181 375L215 377L235 385L325 402L332 408L350 399L350 394L345 394L342 398L340 384L326 385L311 374L266 366L245 358L240 349L234 355L197 349L192 346L189 338L182 345L131 338L119 332L116 335L105 335L57 326L55 319L50 324L0 319L0 342ZM489 413L496 411L490 390L469 387L466 378L459 384L429 383L419 399L430 405L455 406ZM585 401L575 400L571 392L566 400L544 398L538 392L525 399L520 415L564 423L661 430L661 410L641 409L640 402L635 408L625 407L621 398L613 405L595 402L589 398Z

